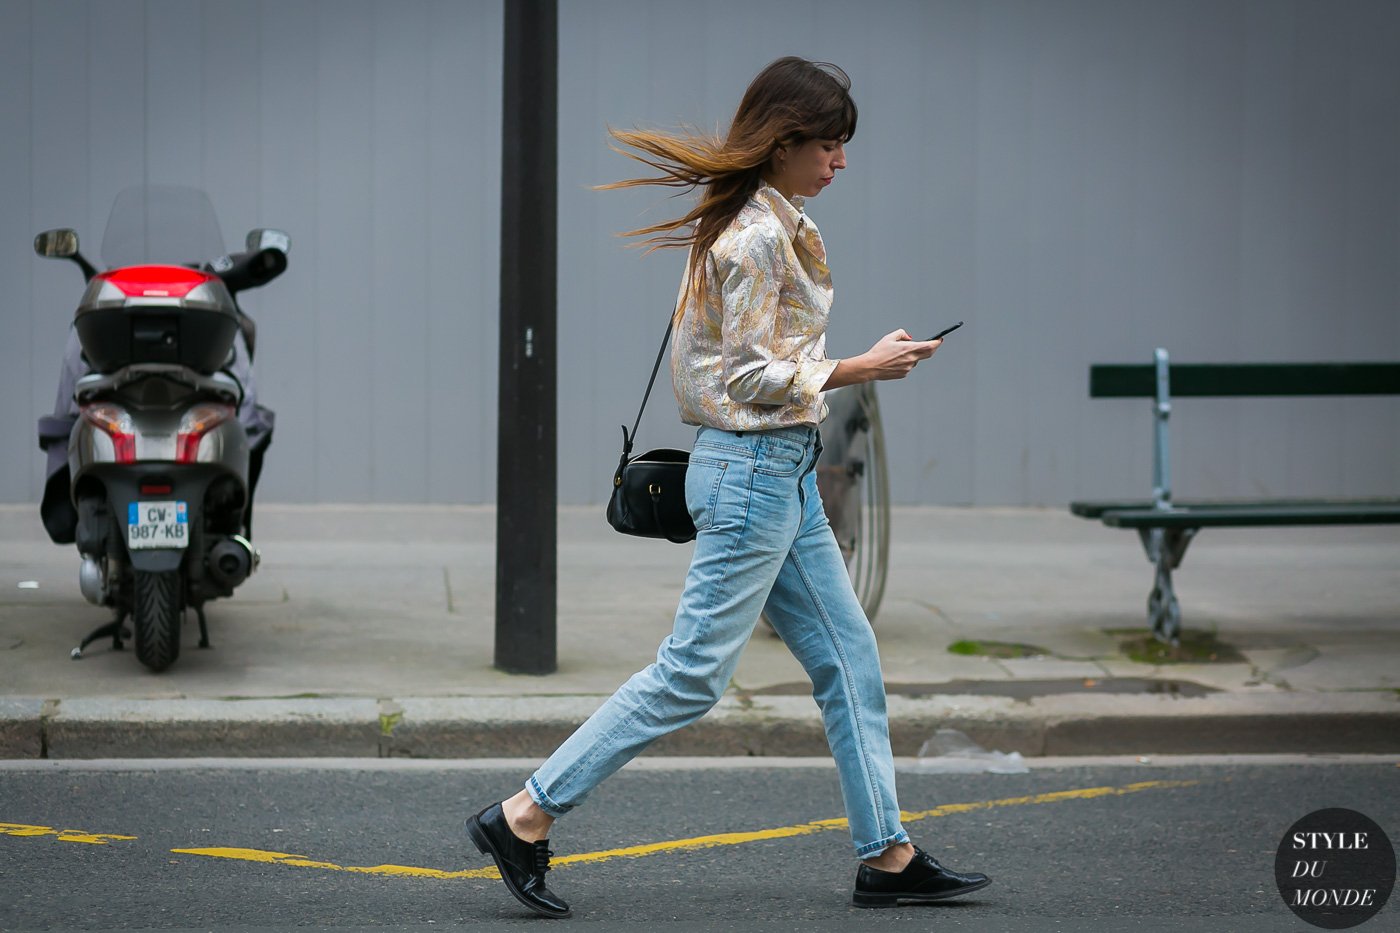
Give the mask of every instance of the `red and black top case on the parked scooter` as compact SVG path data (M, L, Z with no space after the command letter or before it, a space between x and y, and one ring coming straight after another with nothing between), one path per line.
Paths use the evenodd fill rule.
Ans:
M234 350L238 310L216 275L186 266L126 266L92 277L73 324L98 373L174 363L209 374Z

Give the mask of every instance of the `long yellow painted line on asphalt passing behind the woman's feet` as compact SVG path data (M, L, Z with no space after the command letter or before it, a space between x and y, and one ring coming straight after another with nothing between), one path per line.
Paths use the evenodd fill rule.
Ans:
M1028 807L1051 803L1065 803L1071 800L1093 800L1098 797L1121 797L1124 794L1142 793L1145 790L1168 790L1172 787L1190 787L1196 780L1141 780L1121 787L1078 787L1074 790L1057 790L1044 794L1029 794L1023 797L1002 797L1000 800L977 800L972 803L944 804L932 810L904 811L900 814L903 822L918 822L921 820L935 820L979 810L994 810L998 807ZM603 849L601 852L584 852L578 855L560 856L552 862L554 867L570 864L587 864L608 862L610 859L640 859L666 852L687 852L694 849L713 849L717 846L736 846L749 842L763 842L767 839L788 839L792 836L806 836L829 829L844 829L847 821L816 820L799 822L791 827L776 827L773 829L755 829L752 832L720 832L708 836L693 836L690 839L672 839L669 842L652 842L640 846L624 846L620 849ZM444 871L441 869L416 869L402 864L379 866L340 866L330 862L316 862L305 856L287 852L266 852L262 849L171 849L176 855L197 855L214 859L235 859L241 862L263 862L273 864L290 864L301 869L323 869L329 871L353 871L357 874L384 874L395 877L419 878L500 878L494 869L468 869L465 871Z

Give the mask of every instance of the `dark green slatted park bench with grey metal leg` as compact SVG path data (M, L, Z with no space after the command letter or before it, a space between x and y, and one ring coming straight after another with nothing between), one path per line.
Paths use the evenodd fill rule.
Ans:
M1173 502L1168 419L1172 398L1400 395L1400 363L1155 363L1089 367L1089 398L1151 398L1155 422L1152 499L1072 502L1070 511L1110 528L1133 528L1156 566L1147 615L1152 633L1176 644L1182 611L1172 570L1201 528L1400 524L1400 497Z

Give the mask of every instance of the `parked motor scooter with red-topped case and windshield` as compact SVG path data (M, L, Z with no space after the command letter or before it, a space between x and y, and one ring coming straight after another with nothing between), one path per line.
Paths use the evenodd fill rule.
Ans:
M73 658L105 636L120 650L130 619L137 660L164 671L179 657L186 609L209 647L204 604L256 570L252 490L273 416L255 403L256 331L235 296L281 275L290 245L258 228L244 252L225 254L209 198L174 186L118 196L105 272L74 230L35 237L38 255L71 259L87 280L59 410L39 419L45 528L77 545L83 595L113 614Z

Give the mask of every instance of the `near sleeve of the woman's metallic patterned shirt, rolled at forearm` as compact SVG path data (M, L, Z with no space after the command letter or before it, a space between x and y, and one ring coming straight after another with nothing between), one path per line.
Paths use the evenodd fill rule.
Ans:
M837 361L809 354L819 333L784 326L781 231L755 224L727 245L717 258L725 394L748 405L815 405Z

